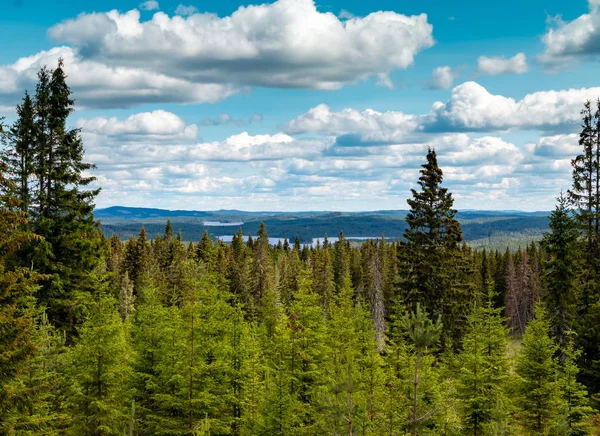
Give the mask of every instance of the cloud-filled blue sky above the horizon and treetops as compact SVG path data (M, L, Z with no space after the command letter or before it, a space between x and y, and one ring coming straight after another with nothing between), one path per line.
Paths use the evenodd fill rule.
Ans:
M248 0L246 0L248 1ZM600 0L5 0L0 115L62 58L97 207L550 210L600 97Z

